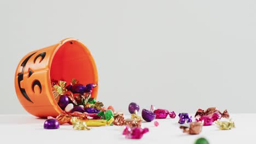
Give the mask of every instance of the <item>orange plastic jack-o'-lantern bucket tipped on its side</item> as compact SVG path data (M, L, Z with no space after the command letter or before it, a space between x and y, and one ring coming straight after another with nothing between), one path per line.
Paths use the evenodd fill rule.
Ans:
M28 53L21 59L15 73L15 90L25 110L37 117L56 117L63 110L54 99L51 80L72 79L87 85L98 83L97 68L87 47L77 39ZM98 86L91 97L97 98Z

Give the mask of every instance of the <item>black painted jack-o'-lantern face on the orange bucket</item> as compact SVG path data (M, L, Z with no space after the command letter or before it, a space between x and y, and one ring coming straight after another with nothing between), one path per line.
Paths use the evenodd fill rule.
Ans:
M18 74L18 85L19 85L19 89L20 89L20 92L22 93L22 95L24 96L25 99L27 99L28 101L30 101L31 103L33 103L33 101L30 99L30 97L28 97L27 95L27 92L26 92L26 89L25 88L22 88L20 83L21 81L24 79L24 69L26 67L26 64L28 62L28 60L35 54L36 52L32 53L30 56L28 56L20 65L20 67L22 67L22 71L21 73ZM39 53L39 55L37 55L35 58L34 58L34 64L36 64L36 60L38 57L42 57L39 61L42 62L44 57L46 55L46 52L42 52L42 53ZM33 74L34 72L29 68L28 69L28 78ZM33 89L33 92L34 92L34 87L35 86L38 86L40 88L40 93L42 92L42 85L40 83L39 80L34 80L33 83L32 83L32 89Z

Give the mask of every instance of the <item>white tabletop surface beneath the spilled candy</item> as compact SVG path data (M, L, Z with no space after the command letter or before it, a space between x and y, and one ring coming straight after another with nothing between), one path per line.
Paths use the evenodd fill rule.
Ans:
M210 143L245 143L255 142L255 118L253 114L231 114L236 128L219 130L216 125L204 126L199 135L188 135L179 129L178 117L155 119L143 122L142 127L149 128L149 133L142 139L125 139L123 127L92 127L91 130L74 130L72 125L61 125L60 129L43 128L45 119L31 115L0 115L1 141L26 143L194 143L199 137L205 137ZM127 116L128 117L128 116ZM126 118L127 118L126 117ZM2 142L1 142L2 143Z

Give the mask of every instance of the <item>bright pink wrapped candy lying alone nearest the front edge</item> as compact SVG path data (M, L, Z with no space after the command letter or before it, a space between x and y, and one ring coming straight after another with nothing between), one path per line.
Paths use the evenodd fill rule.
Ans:
M123 135L125 135L126 139L141 139L142 136L146 133L148 133L149 129L148 128L140 128L140 127L125 127L123 131Z

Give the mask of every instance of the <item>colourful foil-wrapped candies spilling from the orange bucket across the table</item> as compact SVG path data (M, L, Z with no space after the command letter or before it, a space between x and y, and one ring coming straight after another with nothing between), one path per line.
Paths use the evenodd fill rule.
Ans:
M62 124L71 124L75 130L90 130L90 127L100 127L104 125L124 125L123 135L127 139L141 139L149 132L148 128L142 127L142 121L152 122L154 119L163 119L169 116L175 118L174 111L156 109L151 105L150 110L143 109L142 117L138 116L139 105L130 103L129 112L131 118L124 117L123 113L115 112L113 106L103 107L103 103L91 98L91 92L97 85L82 85L73 79L70 85L65 81L53 80L53 94L57 104L63 110L56 118L48 117L44 123L45 129L58 129ZM219 129L227 130L235 127L234 122L220 121L221 118L229 118L229 113L225 110L220 112L217 107L210 107L206 110L198 109L195 113L195 121L189 113L179 113L180 128L183 133L200 134L202 126L215 123ZM158 121L154 122L158 127Z

